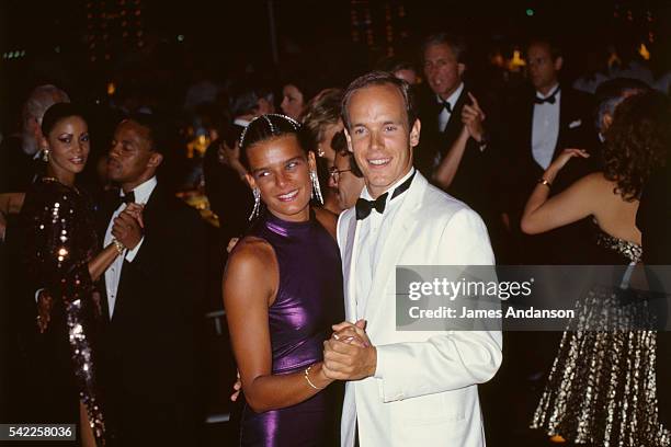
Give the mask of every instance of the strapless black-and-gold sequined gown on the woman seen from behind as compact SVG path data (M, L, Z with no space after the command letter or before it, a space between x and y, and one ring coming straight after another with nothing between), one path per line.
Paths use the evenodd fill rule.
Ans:
M598 228L595 238L601 264L640 261L640 245ZM577 314L613 316L613 299L594 288ZM658 416L656 351L653 331L566 331L531 427L594 447L671 446Z

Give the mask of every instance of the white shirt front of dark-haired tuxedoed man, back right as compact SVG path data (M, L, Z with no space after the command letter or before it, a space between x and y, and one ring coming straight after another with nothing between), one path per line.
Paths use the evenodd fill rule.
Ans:
M549 98L558 85L553 87L547 95L536 92L536 98ZM532 154L536 163L544 170L553 161L557 138L559 137L559 104L561 91L555 93L555 103L534 104L534 121L532 127Z

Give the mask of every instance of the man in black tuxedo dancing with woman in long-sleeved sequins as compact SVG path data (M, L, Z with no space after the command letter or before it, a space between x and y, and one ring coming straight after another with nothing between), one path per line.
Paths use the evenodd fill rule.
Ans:
M134 241L101 287L109 317L104 380L123 447L197 445L203 415L196 383L205 229L157 181L163 147L156 118L134 115L116 127L107 162L121 191L103 207L101 234L109 243L116 227ZM126 203L143 206L141 228L124 213Z

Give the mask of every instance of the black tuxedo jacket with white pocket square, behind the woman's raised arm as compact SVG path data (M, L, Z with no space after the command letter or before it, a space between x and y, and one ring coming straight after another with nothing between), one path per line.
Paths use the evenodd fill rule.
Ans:
M501 168L505 175L501 177L502 184L499 187L504 192L501 207L509 214L518 242L523 245L519 252L524 253L525 257L518 261L530 264L584 263L588 262L588 255L582 256L580 253L587 253L585 244L591 243L587 221L533 237L523 236L520 230L526 200L545 172L532 152L534 98L535 92L526 90L509 100L507 106L505 157ZM570 160L555 180L550 192L553 195L584 175L601 170L601 144L594 130L592 110L591 96L570 88L561 88L559 133L553 160L566 148L585 149L591 157Z

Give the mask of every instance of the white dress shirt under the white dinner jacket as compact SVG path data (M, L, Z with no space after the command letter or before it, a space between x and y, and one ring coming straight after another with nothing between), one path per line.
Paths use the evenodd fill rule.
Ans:
M371 215L363 219L356 231L357 239L357 260L356 260L356 316L361 318L363 309L365 308L365 300L371 293L371 285L373 284L373 276L375 275L375 268L379 265L379 254L384 245L384 241L389 233L394 216L400 208L400 204L403 202L405 194L400 194L391 200L394 190L408 180L414 173L414 168L410 169L402 179L396 182L387 192L387 202L385 205L385 213L379 214L377 209L373 208ZM384 194L384 193L383 193ZM382 195L382 194L380 194ZM373 200L368 188L364 186L361 192L362 198L366 200Z

